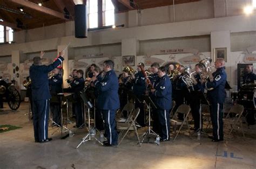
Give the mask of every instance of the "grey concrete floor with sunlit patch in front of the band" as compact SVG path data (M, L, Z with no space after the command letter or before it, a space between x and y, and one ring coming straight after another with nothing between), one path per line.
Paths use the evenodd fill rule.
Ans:
M236 132L225 142L212 143L207 136L197 140L183 134L176 142L136 145L130 135L119 147L103 147L95 141L75 147L85 136L85 129L75 136L60 139L49 128L49 143L34 143L32 122L22 103L18 111L7 104L0 111L0 124L22 126L22 129L0 133L0 168L256 168L255 125L246 129L250 135ZM140 135L145 129L139 129Z

